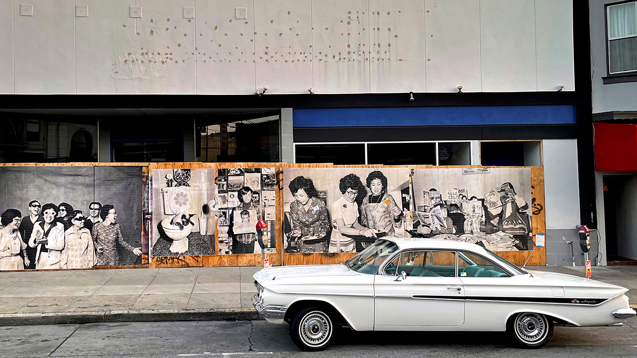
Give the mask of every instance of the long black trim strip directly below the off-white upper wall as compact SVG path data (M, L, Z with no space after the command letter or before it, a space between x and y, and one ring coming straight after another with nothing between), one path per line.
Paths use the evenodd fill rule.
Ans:
M577 62L577 61L576 61ZM590 81L590 78L589 78ZM588 93L590 97L590 92ZM575 91L365 94L2 94L0 109L18 108L338 108L578 104Z

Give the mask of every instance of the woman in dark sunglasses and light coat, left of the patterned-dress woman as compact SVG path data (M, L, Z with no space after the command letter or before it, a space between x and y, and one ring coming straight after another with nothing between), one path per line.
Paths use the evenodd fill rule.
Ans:
M93 267L93 239L90 231L84 227L85 217L81 210L73 210L71 224L66 235L66 245L64 246L64 264L62 268L92 268Z

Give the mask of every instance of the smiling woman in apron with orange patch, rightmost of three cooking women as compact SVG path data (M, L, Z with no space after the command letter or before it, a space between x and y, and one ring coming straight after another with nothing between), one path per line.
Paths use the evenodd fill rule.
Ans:
M371 195L362 200L361 224L394 236L394 227L403 224L403 210L394 201L394 197L387 193L387 176L375 170L367 176L367 187Z

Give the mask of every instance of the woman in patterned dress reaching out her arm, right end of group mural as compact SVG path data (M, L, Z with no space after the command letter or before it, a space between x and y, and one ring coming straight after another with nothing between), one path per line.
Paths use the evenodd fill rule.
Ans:
M122 236L122 227L116 224L117 213L113 205L104 205L99 212L102 222L96 222L93 226L93 243L97 252L95 264L97 266L119 265L119 254L117 254L117 242L126 250L135 255L141 255L140 248L132 247Z

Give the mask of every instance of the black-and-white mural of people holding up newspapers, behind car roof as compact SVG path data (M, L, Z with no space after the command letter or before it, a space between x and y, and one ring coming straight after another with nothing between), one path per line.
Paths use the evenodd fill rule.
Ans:
M531 169L412 169L413 227L422 236L533 250Z

